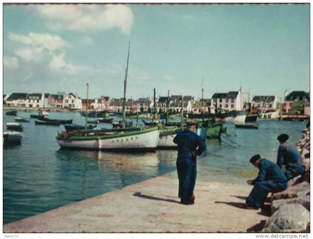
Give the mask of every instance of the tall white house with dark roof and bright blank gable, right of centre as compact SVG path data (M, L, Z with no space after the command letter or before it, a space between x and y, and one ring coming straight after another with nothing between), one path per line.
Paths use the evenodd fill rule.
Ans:
M213 100L213 102L212 102ZM244 107L241 91L227 91L226 93L214 93L211 105L215 105L216 109L225 111L241 111Z

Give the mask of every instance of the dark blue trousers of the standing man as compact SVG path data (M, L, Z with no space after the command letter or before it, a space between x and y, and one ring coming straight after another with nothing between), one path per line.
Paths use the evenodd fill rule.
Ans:
M183 204L190 204L196 185L197 162L188 157L177 157L177 175L179 180L178 197Z

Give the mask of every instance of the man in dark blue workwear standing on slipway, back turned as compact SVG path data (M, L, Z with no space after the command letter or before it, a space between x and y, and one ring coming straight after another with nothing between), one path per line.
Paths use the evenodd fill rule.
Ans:
M177 144L177 174L179 180L178 197L181 203L189 205L194 204L193 189L197 177L197 155L201 155L206 148L205 141L193 131L196 128L196 122L187 122L187 128L178 132L173 142ZM198 149L197 149L198 147Z

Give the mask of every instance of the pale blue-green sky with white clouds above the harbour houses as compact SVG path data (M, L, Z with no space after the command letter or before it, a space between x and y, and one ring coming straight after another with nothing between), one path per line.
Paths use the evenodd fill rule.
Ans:
M3 94L310 90L309 4L3 6Z

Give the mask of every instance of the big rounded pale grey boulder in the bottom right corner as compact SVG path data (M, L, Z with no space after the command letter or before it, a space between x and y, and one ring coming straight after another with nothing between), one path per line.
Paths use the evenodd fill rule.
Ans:
M262 232L305 232L310 223L310 212L300 204L287 204L265 223Z

